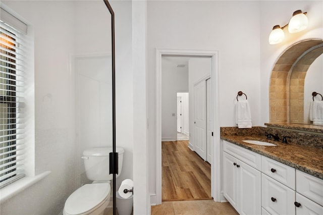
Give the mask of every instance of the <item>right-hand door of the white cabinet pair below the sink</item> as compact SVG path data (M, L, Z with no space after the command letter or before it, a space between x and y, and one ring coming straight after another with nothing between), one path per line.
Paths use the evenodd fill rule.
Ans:
M238 161L239 213L261 214L261 173Z

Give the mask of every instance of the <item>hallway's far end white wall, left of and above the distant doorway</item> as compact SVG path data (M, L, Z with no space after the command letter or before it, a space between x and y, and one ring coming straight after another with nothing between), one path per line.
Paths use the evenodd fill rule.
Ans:
M161 140L177 139L177 92L188 92L188 67L161 58ZM175 116L173 116L173 114Z

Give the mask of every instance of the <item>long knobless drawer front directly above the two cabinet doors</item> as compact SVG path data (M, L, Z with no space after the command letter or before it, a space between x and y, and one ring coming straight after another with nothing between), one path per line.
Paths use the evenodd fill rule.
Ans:
M223 150L260 171L261 155L223 140Z

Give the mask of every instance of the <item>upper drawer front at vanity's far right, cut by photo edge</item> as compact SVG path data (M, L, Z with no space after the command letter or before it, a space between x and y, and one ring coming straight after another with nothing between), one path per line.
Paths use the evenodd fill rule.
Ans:
M296 170L296 191L323 206L323 180Z

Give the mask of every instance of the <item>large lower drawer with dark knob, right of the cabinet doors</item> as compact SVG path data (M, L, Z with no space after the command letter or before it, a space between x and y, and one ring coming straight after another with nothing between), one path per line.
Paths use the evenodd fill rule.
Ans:
M261 206L271 214L295 214L295 191L261 173Z

